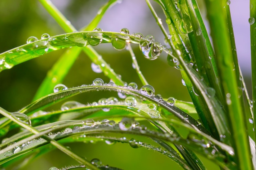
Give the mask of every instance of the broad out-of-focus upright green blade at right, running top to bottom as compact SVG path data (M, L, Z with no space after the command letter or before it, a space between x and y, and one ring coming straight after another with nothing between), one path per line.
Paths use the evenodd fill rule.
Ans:
M226 2L226 1L225 1ZM230 130L233 137L234 149L240 169L252 169L249 139L245 125L242 104L238 98L238 80L234 73L233 55L227 21L223 16L221 0L206 1L213 46L216 52L222 90L226 97L227 116L229 117Z

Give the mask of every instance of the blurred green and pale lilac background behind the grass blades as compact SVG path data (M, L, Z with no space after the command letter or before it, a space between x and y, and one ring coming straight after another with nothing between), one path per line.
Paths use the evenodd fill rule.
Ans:
M106 0L52 0L53 4L67 17L68 20L80 29L87 25L97 14L98 9L105 4ZM158 15L164 22L162 9L152 2ZM203 17L205 9L202 0L198 0ZM231 1L231 15L233 18L234 34L237 44L238 60L240 62L247 87L251 91L251 63L249 42L249 0ZM207 23L207 20L206 20ZM165 24L165 23L164 23ZM143 33L144 36L151 34L155 40L164 44L164 37L157 26L153 15L144 0L119 0L111 7L102 18L99 27L103 31L117 31L128 28L130 33ZM43 33L58 35L65 33L54 19L47 13L41 4L35 0L1 0L0 1L0 53L26 43L30 36L40 38ZM164 98L174 97L179 100L191 101L186 87L182 85L181 75L178 70L168 66L166 54L162 53L157 60L146 60L139 51L138 45L132 45L135 55L148 83L155 88ZM128 51L116 51L111 44L101 44L95 49L102 55L117 74L122 76L125 82L136 82L139 87L142 84L132 68L132 60ZM59 50L47 53L36 59L14 66L10 70L0 73L0 106L14 112L29 104L36 93L37 88L43 81L47 71L52 67L65 51ZM72 56L70 56L72 57ZM91 69L91 61L81 53L72 66L63 84L67 87L91 84L100 77L109 82L103 73L94 73ZM69 100L81 103L98 101L102 97L110 97L114 93L88 93L78 95ZM63 103L63 102L62 102ZM62 104L61 103L61 104ZM61 104L56 104L50 109L59 109ZM97 157L105 164L128 169L179 169L173 161L168 161L162 155L150 150L130 149L125 144L70 144L72 150L80 155L92 159ZM123 159L120 159L123 158ZM167 164L166 164L167 162ZM26 170L45 170L46 167L62 166L75 163L62 152L54 150L43 157L35 159ZM162 167L159 167L159 165ZM211 167L211 168L210 168ZM209 169L216 169L209 163Z

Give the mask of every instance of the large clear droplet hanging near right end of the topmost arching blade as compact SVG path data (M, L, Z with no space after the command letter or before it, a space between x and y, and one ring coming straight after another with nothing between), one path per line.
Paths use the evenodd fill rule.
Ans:
M148 60L155 60L161 54L162 50L152 42L142 41L139 43L139 49Z

